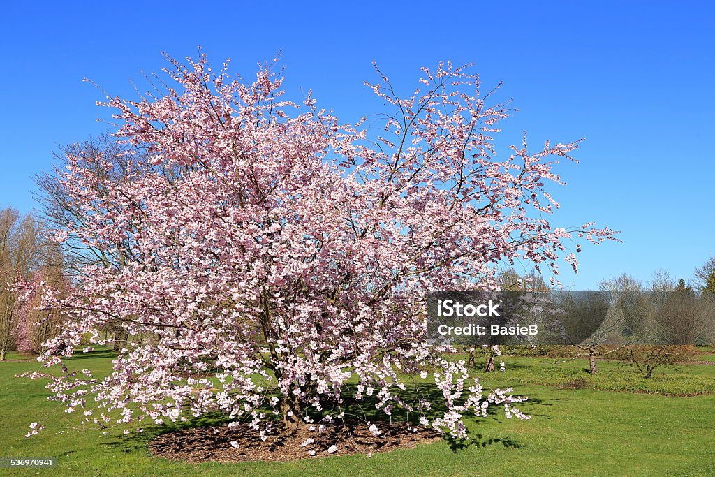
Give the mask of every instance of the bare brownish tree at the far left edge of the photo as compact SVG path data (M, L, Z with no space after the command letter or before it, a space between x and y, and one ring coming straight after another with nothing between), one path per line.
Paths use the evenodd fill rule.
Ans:
M0 360L16 346L19 329L17 284L27 280L41 254L41 225L12 207L0 210Z

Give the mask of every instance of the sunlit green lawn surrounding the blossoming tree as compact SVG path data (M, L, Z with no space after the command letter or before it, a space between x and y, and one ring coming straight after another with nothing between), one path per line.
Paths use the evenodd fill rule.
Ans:
M10 360L18 358L9 355ZM72 358L73 368L109 370L111 355ZM701 355L712 361L712 355ZM464 446L440 441L412 450L292 463L188 464L154 458L147 444L166 428L108 436L77 428L77 415L46 399L42 380L14 378L36 362L0 363L0 456L56 456L56 469L0 470L0 475L68 476L714 476L715 365L657 370L639 378L618 363L583 372L583 361L506 357L506 373L488 384L514 385L531 400L531 421L470 422ZM579 383L579 389L569 388ZM571 386L573 387L573 386ZM636 392L632 392L636 391ZM684 394L690 397L677 397ZM24 438L32 421L39 436Z

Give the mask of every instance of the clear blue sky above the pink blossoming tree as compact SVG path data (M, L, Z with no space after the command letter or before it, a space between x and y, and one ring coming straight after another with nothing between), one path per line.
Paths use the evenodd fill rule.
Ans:
M0 205L34 207L31 176L60 144L100 134L109 110L88 77L135 97L130 79L164 67L159 51L250 77L282 51L285 87L312 89L345 121L374 107L376 60L412 89L418 68L475 63L485 87L520 109L503 141L586 137L553 223L596 220L623 243L586 246L575 288L658 268L688 278L715 254L715 7L707 1L15 2L0 19ZM170 5L170 7L169 7ZM359 6L358 6L359 5ZM141 87L140 89L145 89ZM100 119L100 121L98 121Z

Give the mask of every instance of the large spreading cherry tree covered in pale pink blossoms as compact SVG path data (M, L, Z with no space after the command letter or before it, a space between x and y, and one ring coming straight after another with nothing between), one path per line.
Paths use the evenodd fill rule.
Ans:
M109 320L129 339L107 378L64 368L54 398L104 426L220 410L262 433L272 416L301 426L340 415L348 398L388 415L438 404L420 422L457 438L464 416L490 404L526 418L512 407L523 398L483 392L430 344L425 292L493 289L497 265L517 257L576 267L563 242L611 237L543 218L557 206L543 187L560 182L549 158L577 144L525 142L498 159L491 135L508 109L451 64L423 69L407 97L380 74L369 86L388 111L373 135L310 95L283 99L270 67L244 82L203 58L170 61L166 92L104 103L117 137L144 152L124 162L125 180L106 179L116 162L101 155L92 167L70 156L59 172L83 215L57 240L109 265L83 267L74 295L54 300L74 325L41 359L61 365L83 340L104 344ZM434 383L440 402L415 400L410 381Z

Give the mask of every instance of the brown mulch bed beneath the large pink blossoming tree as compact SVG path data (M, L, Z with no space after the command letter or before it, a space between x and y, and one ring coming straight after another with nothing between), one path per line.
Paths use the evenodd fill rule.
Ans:
M342 423L326 426L320 432L317 424L300 429L275 427L261 441L258 431L242 424L233 430L227 426L192 428L162 434L154 438L149 448L157 457L187 462L240 462L240 461L297 461L326 456L346 456L397 448L414 448L420 443L440 441L441 434L433 429L417 426L408 429L406 423L375 423L380 436L375 436L365 423ZM312 438L314 441L302 446ZM235 448L231 442L239 447ZM337 450L329 452L331 446ZM311 452L314 455L311 455Z

